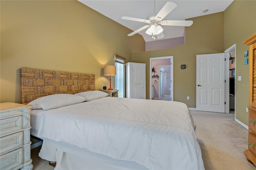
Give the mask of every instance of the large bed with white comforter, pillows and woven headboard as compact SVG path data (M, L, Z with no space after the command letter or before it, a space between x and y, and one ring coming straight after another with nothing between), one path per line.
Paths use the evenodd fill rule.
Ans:
M56 161L55 169L204 169L184 103L106 97L94 74L20 73L31 134L43 140L39 156ZM64 104L54 103L58 97Z

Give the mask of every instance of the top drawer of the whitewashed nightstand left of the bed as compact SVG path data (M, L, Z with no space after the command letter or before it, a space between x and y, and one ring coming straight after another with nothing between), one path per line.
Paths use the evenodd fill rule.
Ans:
M10 117L0 121L0 137L22 131L22 116Z

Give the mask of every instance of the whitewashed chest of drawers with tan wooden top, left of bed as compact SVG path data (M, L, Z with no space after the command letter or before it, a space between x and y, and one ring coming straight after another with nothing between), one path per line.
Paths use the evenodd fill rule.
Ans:
M32 170L30 105L0 103L0 169Z

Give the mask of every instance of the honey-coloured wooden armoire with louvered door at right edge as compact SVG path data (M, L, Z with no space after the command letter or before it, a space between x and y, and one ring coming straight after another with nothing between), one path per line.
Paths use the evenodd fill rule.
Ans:
M248 149L244 155L256 165L256 34L245 40L244 44L250 45Z

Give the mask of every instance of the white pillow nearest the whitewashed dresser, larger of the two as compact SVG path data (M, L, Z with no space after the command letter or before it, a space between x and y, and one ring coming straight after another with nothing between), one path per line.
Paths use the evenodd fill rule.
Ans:
M70 95L70 94L55 94L48 95L44 97L40 97L28 103L31 105L31 109L54 109L58 107L73 105L76 103L82 103L86 99L82 96L78 95Z

